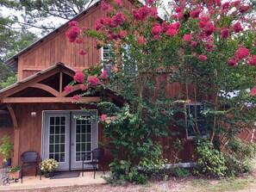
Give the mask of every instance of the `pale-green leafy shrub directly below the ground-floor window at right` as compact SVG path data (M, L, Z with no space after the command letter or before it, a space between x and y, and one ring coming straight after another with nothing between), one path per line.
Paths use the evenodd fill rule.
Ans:
M210 177L224 177L227 166L222 152L215 150L213 145L204 139L197 139L197 166L195 173Z

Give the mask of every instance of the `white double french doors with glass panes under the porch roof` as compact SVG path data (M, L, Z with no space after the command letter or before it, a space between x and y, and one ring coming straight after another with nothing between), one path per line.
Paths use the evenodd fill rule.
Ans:
M58 170L80 170L87 152L97 148L97 121L79 117L97 115L82 111L44 111L42 128L42 159L54 158ZM87 159L90 160L90 159ZM87 167L91 169L90 166Z

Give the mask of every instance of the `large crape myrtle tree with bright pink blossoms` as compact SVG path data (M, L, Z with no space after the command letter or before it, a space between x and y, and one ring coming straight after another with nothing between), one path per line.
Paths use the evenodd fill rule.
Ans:
M109 88L127 101L122 108L111 102L97 107L103 113L99 121L105 125L107 146L116 155L122 151L118 158L126 159L129 168L143 158L159 155L152 138L171 136L168 124L173 123L177 103L195 103L193 113L189 109L184 114L193 114L187 124L199 139L197 144L205 138L209 143L206 148L217 150L213 164L222 159L222 147L254 121L256 23L246 15L250 4L180 0L169 5L171 10L163 21L153 0L135 4L132 10L125 9L120 0L102 2L105 15L94 29L70 22L66 33L73 43L95 39L95 44L80 54L103 46L113 50L109 60L77 71L72 84L80 84L82 96ZM111 69L101 71L101 66L108 64ZM172 100L166 84L175 83L183 89ZM203 110L197 110L197 102ZM200 129L199 116L203 116L207 135ZM222 176L227 167L224 161L218 164L223 166L215 167L213 175Z

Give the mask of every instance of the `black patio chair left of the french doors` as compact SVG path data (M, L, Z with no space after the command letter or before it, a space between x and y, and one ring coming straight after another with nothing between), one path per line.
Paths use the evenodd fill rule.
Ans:
M41 158L38 152L34 152L34 151L23 152L21 155L21 161L22 161L21 179L23 179L24 169L35 168L35 177L37 177L37 170L39 169L40 180L41 180Z

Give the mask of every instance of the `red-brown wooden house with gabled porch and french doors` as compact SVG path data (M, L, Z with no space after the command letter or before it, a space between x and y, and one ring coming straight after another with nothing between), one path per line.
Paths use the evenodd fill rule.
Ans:
M132 9L132 1L124 0L124 5ZM103 15L100 3L77 15L72 20L81 26L94 28L97 18ZM66 38L68 23L28 46L22 52L5 61L17 69L18 82L0 90L0 138L11 135L14 142L13 164L20 164L20 156L25 151L36 151L41 158L55 158L59 170L79 170L84 152L97 147L98 141L104 142L103 126L96 121L79 121L75 115L87 116L80 105L72 103L72 96L78 94L78 86L67 93L64 88L72 81L76 70L83 70L103 59L103 49L90 50L80 55L79 50L93 45L88 39L84 44L72 44ZM170 95L180 91L178 85L170 85ZM109 99L120 102L109 91ZM85 96L80 101L100 102L100 96ZM97 108L83 106L100 115ZM180 134L185 138L186 132ZM172 141L161 139L165 157L170 158ZM188 139L180 158L190 162L194 152L194 142ZM113 160L109 151L105 151L106 166ZM2 159L0 158L0 161Z

